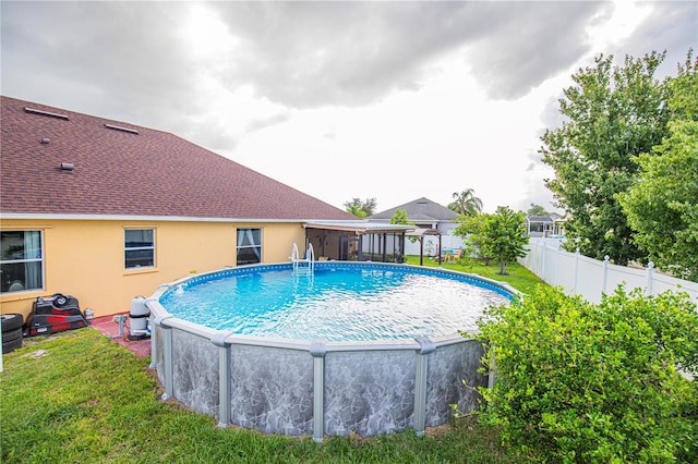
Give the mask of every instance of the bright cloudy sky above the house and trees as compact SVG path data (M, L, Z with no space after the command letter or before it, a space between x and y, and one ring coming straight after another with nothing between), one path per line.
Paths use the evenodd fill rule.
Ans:
M1 2L2 95L171 132L342 205L553 210L540 136L599 53L698 49L698 2Z

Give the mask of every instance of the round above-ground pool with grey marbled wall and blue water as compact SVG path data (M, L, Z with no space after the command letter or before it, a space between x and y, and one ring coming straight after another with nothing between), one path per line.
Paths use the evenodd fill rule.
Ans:
M364 436L446 423L483 347L473 331L515 291L477 276L406 265L327 261L192 276L147 300L153 367L190 408L264 432Z

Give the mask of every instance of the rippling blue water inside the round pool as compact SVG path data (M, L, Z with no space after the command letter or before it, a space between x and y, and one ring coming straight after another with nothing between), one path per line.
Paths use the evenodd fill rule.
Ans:
M465 274L413 267L252 267L196 278L160 298L174 317L237 334L377 341L474 331L482 310L507 304L504 289Z

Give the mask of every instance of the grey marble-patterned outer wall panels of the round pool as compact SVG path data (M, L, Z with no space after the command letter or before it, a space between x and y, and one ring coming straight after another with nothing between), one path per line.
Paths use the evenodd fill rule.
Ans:
M172 338L171 394L188 407L219 417L219 350L210 339L154 327L155 363L165 384L167 331ZM305 350L229 345L230 423L263 432L313 435L313 357ZM443 425L479 406L469 387L486 386L478 374L483 347L459 340L429 353L425 426ZM389 434L416 427L416 350L332 351L324 357L323 435Z

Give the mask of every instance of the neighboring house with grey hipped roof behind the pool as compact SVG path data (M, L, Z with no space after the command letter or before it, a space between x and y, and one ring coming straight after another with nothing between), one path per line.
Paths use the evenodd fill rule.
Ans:
M385 211L369 216L366 220L369 222L389 223L390 218L393 218L393 215L395 215L395 211L398 209L406 211L408 221L420 230L441 232L441 243L443 248L462 247L462 240L459 236L453 235L454 230L458 227L458 213L453 209L448 209L435 202L432 202L429 198L418 198L404 205L396 206L395 208L386 209ZM426 251L425 253L430 255L437 253L438 243L438 239L434 235L425 237L425 242L423 244ZM419 244L407 243L405 253L408 255L420 254Z

